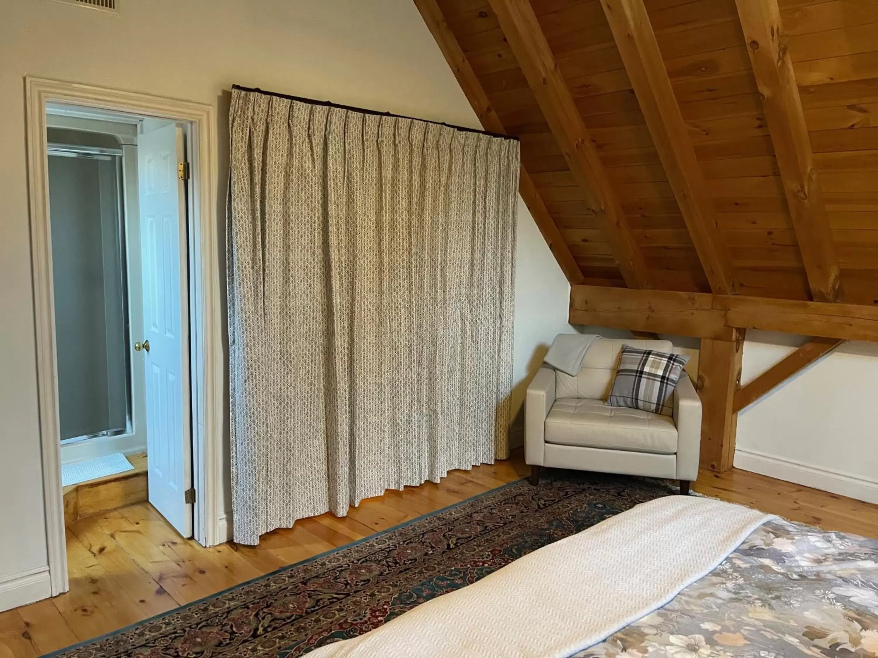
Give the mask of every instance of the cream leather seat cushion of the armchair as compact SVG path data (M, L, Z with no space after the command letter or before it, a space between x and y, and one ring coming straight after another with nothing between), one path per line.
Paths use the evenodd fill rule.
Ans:
M631 452L674 454L673 418L649 411L609 407L601 400L561 397L545 419L546 443Z

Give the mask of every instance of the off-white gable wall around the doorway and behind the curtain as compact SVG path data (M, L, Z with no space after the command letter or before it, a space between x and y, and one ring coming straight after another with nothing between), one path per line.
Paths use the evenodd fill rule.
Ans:
M225 217L227 89L238 82L478 126L411 0L119 0L120 16L49 0L0 0L0 609L3 583L47 563L40 472L25 75L130 89L219 109ZM515 377L565 329L567 289L520 218ZM220 245L225 238L220 232ZM536 241L537 246L534 245ZM222 259L220 259L220 262ZM544 283L551 281L552 283ZM515 398L520 404L520 391Z

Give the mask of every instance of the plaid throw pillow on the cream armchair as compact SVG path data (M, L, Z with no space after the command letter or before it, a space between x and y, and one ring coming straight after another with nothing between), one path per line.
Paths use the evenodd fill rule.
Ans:
M687 361L683 354L624 346L607 404L670 416L673 390Z

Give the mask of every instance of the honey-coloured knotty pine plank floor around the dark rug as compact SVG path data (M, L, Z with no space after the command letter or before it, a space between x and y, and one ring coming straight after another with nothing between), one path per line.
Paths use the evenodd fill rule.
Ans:
M109 633L315 554L363 539L528 476L521 450L507 461L452 471L364 500L339 519L324 514L263 536L257 547L204 548L184 540L148 503L68 527L70 591L0 613L0 658L37 656ZM702 471L693 489L830 530L878 537L878 505L745 471Z

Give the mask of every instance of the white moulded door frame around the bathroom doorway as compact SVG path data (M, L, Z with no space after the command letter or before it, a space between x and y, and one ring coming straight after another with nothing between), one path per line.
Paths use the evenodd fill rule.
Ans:
M61 494L61 434L55 354L52 240L48 211L47 104L74 104L104 111L187 122L191 166L190 325L193 483L197 490L195 538L214 546L220 536L222 493L220 440L223 435L223 346L217 241L216 112L211 105L76 82L25 78L28 192L31 220L33 310L36 323L37 386L40 404L43 493L52 596L68 590ZM223 521L225 526L225 521Z

